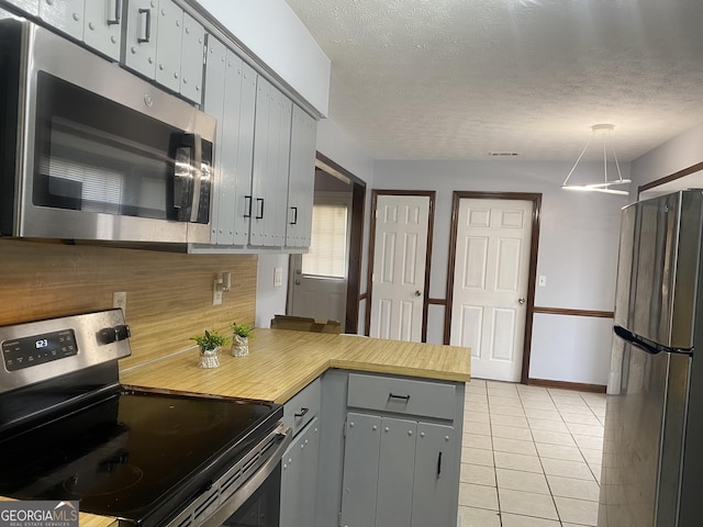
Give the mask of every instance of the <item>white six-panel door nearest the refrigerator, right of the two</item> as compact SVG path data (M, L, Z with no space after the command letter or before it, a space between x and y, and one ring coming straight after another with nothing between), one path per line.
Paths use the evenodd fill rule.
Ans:
M459 200L450 344L471 348L471 375L520 381L533 202Z

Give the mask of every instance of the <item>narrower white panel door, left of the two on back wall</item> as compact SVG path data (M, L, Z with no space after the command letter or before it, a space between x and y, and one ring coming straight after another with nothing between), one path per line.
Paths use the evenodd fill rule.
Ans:
M378 197L371 337L422 340L428 223L429 197Z

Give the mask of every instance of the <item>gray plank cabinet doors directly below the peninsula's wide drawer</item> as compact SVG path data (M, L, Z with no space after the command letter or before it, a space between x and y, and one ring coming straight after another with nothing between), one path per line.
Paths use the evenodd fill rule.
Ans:
M454 449L451 426L349 412L342 525L449 526Z

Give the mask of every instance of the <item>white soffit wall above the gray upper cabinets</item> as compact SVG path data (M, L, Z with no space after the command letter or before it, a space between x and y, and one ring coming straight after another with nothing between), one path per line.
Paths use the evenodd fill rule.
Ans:
M248 51L327 114L331 63L283 0L197 0Z

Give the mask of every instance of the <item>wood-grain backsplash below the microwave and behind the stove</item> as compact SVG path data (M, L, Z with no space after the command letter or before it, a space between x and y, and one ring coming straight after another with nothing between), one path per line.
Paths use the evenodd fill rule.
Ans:
M232 291L212 305L216 273ZM185 255L113 247L0 239L0 325L112 306L126 291L132 357L122 369L193 346L203 329L225 332L256 312L255 255Z

